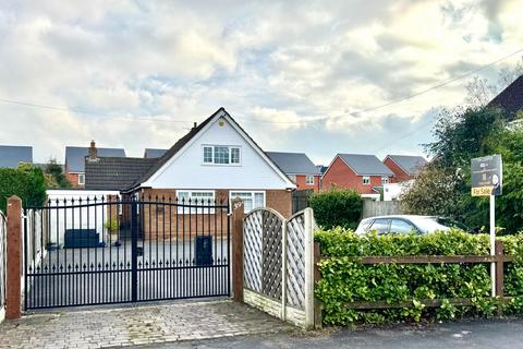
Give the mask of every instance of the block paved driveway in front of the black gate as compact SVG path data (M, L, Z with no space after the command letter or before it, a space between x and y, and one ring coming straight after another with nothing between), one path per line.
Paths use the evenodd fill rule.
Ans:
M107 348L293 330L229 299L38 312L0 325L0 348Z

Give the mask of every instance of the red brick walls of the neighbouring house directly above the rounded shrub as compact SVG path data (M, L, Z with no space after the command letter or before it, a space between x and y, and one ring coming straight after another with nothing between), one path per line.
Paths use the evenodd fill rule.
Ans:
M337 157L324 174L323 189L329 190L332 185L354 189L361 194L377 194L373 186L381 186L381 176L370 176L370 183L363 184L363 176L354 173L340 157Z

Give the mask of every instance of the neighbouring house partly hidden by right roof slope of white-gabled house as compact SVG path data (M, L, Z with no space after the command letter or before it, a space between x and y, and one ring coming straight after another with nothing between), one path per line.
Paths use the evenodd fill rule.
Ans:
M296 189L319 191L321 173L304 153L266 152L266 154L296 184Z

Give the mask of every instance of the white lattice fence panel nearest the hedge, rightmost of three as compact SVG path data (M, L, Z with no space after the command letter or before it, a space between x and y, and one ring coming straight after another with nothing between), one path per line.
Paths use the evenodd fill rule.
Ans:
M305 308L305 215L287 222L287 303Z

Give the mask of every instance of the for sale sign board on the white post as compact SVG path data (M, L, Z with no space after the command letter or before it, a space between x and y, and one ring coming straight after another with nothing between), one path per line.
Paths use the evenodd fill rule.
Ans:
M503 168L501 155L490 155L471 160L472 196L501 195Z

